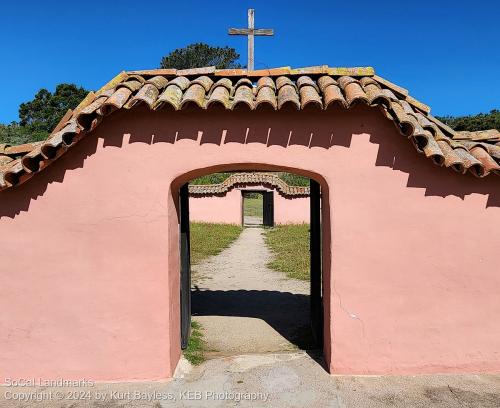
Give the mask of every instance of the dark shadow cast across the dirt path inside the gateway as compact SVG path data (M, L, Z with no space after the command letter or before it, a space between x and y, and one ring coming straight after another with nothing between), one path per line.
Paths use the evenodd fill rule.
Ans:
M191 291L193 316L251 317L265 321L302 350L316 349L308 295L270 290Z

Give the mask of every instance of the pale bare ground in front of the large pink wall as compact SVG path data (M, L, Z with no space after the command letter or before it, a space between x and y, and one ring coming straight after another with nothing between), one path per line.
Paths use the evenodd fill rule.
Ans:
M88 388L0 387L0 408L498 408L500 376L331 376L305 352L184 364L167 382ZM49 398L40 402L13 400ZM71 396L72 400L59 399ZM254 400L245 400L253 398ZM241 401L238 402L238 399Z

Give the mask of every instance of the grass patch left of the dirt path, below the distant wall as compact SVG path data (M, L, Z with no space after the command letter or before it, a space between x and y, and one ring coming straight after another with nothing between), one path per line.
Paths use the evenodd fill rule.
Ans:
M206 222L192 222L190 228L192 265L220 253L238 238L242 231L239 225Z

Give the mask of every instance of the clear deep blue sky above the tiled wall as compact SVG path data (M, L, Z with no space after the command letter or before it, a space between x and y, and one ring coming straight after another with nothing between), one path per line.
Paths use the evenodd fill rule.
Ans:
M98 89L121 70L155 68L192 42L246 60L255 8L256 68L373 66L436 115L500 108L499 1L10 1L0 8L0 123L61 82Z

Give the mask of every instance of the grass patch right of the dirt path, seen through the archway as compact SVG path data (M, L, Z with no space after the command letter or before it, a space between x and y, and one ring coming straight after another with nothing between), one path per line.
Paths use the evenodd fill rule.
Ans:
M274 258L268 267L289 278L309 280L309 224L278 225L266 230L266 244Z

